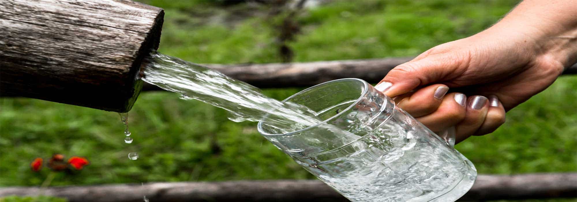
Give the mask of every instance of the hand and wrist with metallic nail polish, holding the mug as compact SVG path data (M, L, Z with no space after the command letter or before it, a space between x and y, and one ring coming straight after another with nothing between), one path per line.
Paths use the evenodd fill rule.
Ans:
M425 51L392 69L376 88L396 96L401 109L434 132L455 126L457 142L493 132L505 111L549 87L577 60L577 21L571 20L577 17L558 9L577 3L541 3L523 2L493 27ZM444 95L447 87L452 93Z

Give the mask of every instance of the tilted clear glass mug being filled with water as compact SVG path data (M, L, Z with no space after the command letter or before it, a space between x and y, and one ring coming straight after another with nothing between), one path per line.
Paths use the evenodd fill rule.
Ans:
M258 132L351 201L455 201L477 177L454 139L444 141L366 81L328 81L283 102L309 107L323 122L274 134L265 119Z

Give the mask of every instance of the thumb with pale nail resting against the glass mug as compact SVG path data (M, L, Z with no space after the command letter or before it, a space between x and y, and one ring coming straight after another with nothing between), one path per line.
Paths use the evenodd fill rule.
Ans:
M449 59L445 54L409 61L389 71L375 88L392 98L419 86L447 81L451 79L449 76L458 70L459 62L456 61L458 60Z

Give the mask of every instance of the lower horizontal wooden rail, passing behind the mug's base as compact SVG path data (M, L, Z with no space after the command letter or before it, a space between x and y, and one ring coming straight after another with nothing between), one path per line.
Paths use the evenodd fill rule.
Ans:
M0 197L35 196L37 187L0 188ZM60 186L44 190L70 202L151 201L348 201L318 180L157 182L144 185ZM577 173L479 175L460 200L577 197Z

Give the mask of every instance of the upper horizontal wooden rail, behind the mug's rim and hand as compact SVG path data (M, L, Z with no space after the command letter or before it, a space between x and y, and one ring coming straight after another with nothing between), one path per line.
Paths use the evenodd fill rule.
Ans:
M404 57L294 63L203 65L259 88L284 88L311 87L339 78L361 78L369 83L378 83L387 75L389 70L411 59L411 57ZM577 63L567 68L563 74L577 74ZM158 91L162 89L146 83L143 90Z

